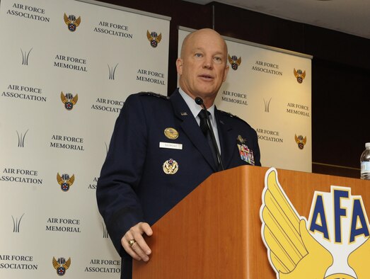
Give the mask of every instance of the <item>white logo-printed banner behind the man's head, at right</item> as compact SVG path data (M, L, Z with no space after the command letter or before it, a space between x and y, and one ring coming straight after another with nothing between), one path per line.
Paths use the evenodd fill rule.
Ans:
M191 32L179 30L179 53ZM312 171L311 56L225 38L229 74L217 108L258 134L262 166Z

